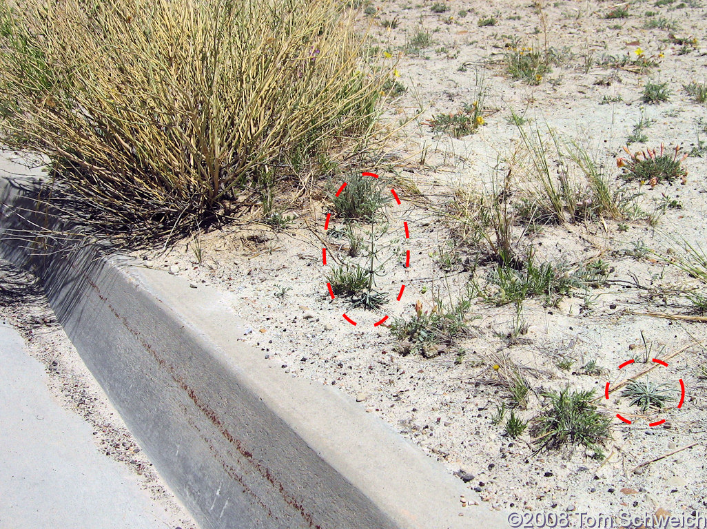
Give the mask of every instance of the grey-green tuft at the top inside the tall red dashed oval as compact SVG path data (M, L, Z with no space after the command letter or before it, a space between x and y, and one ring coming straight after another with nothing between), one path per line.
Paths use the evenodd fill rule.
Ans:
M339 185L339 182L337 182ZM344 222L351 220L372 220L380 208L391 200L391 194L384 191L380 179L364 177L353 173L346 178L346 186L339 191L339 196L332 188L331 200L337 217Z

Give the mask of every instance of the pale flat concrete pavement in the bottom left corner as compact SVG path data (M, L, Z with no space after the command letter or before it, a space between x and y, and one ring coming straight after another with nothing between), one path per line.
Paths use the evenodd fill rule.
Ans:
M124 465L101 454L89 424L64 410L17 331L0 321L0 528L167 529Z

